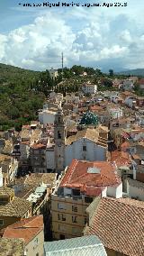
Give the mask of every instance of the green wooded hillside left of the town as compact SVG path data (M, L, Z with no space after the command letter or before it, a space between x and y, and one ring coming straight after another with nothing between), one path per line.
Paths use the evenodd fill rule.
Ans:
M36 120L42 108L44 94L33 85L39 80L40 72L0 64L0 131Z

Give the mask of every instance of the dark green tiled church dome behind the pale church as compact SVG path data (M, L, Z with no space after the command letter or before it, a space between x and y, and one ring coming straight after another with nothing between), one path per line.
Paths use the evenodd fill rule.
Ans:
M80 121L80 124L85 125L97 125L98 123L97 115L90 111L86 112Z

